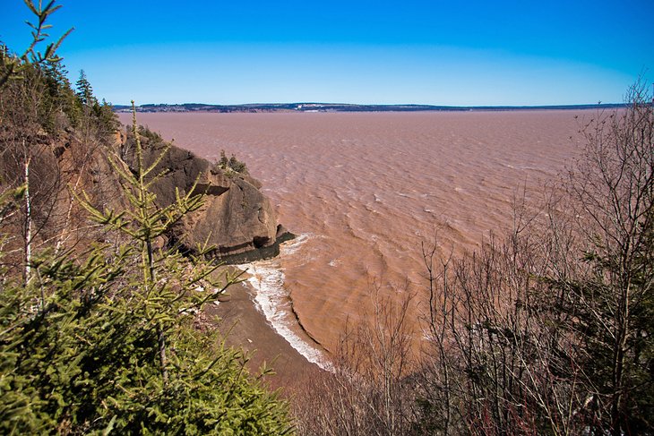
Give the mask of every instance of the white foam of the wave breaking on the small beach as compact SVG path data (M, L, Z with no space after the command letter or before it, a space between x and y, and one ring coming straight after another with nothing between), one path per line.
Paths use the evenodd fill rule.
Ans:
M299 235L296 239L281 244L280 256L296 252L308 237L308 235ZM284 288L284 271L280 260L255 261L238 265L238 268L245 269L249 274L250 277L246 281L254 288L255 306L265 315L272 328L300 355L305 356L306 360L315 363L323 370L329 370L330 365L324 358L323 352L310 343L311 338L301 338L300 333L294 331L294 327L296 330L301 330L301 327L297 325L288 291Z

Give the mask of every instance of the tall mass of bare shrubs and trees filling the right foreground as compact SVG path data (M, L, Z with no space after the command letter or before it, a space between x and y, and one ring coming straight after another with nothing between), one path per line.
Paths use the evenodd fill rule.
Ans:
M512 235L457 261L425 250L420 428L439 434L651 434L654 116L631 106Z

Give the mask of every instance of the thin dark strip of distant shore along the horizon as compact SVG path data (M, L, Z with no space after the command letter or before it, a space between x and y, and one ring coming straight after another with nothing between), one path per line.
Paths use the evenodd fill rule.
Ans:
M433 105L355 105L341 103L256 103L247 105L208 105L183 103L176 105L147 104L136 107L137 112L211 112L211 113L261 113L261 112L500 112L524 110L585 110L615 109L624 103L601 103L595 105L555 106L433 106ZM132 107L114 105L116 112L131 112Z

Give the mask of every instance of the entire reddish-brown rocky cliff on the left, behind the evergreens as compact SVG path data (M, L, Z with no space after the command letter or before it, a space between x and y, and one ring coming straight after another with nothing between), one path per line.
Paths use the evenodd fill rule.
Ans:
M141 132L143 158L150 165L166 144L156 133ZM26 149L22 144L30 143L31 243L35 247L83 249L106 241L72 192L85 192L99 209L124 210L129 202L108 157L117 153L135 170L131 133L88 134L69 127L56 134L35 129L21 136L2 129L0 140L6 145L0 156L2 186L22 184ZM159 162L154 174L159 173L163 176L151 186L159 207L175 201L176 190L184 195L193 189L196 180L196 192L206 194L202 208L185 216L167 235L168 243L180 243L189 252L208 243L215 247L209 253L212 258L234 263L273 257L279 253L280 240L288 238L278 226L271 202L259 191L261 184L250 175L226 172L175 146ZM8 221L13 223L13 233L24 234L24 216ZM8 242L16 252L21 251L20 243L18 239ZM21 262L18 257L15 263Z

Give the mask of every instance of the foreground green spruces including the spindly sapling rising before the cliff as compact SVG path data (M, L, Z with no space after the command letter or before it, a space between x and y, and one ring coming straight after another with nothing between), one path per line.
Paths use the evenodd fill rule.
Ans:
M144 167L136 145L135 174L112 159L130 208L81 200L123 244L41 253L27 286L0 271L0 432L290 432L284 403L248 374L247 356L194 328L194 314L237 278L219 285L216 266L154 247L202 197L177 194L158 209L148 191L156 162ZM16 195L4 194L4 213Z

